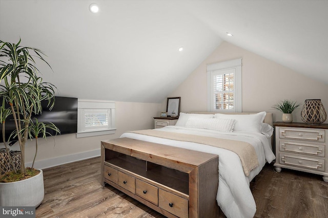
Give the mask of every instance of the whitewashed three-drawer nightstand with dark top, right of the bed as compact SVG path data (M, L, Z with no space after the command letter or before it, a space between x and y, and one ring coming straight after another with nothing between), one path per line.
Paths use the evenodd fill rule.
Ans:
M281 168L322 175L328 182L328 125L276 122L277 172Z

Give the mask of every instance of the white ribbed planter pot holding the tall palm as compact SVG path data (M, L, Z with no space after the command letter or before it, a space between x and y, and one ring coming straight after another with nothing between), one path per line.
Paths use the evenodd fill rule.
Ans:
M43 171L26 180L0 183L0 206L31 206L37 207L45 197Z

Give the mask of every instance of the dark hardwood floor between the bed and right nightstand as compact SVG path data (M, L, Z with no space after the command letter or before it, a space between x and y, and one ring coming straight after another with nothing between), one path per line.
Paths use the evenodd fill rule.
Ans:
M255 217L328 217L328 183L322 176L284 168L275 172L267 164L250 187Z

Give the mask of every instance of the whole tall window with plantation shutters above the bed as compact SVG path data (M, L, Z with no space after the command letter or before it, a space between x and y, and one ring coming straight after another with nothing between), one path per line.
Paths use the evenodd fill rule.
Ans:
M241 59L209 64L208 111L241 112Z

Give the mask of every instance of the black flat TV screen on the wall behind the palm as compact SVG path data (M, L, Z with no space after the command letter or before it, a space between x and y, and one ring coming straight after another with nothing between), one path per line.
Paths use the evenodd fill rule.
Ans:
M1 100L2 102L2 100ZM55 104L51 111L47 107L48 101L42 102L42 114L32 116L33 122L35 122L34 117L37 118L39 122L55 124L59 130L60 135L77 133L77 98L70 97L55 97ZM3 142L2 136L2 125L0 125L0 140ZM5 123L5 139L8 141L10 134L15 129L15 124L13 117L7 118ZM54 130L47 129L51 135L55 135ZM58 134L57 134L58 135ZM16 141L17 139L11 139L10 141Z

